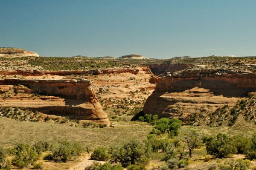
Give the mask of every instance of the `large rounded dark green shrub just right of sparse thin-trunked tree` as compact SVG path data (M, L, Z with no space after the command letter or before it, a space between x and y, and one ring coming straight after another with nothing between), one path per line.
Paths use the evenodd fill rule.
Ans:
M236 153L236 147L233 145L232 138L226 134L218 133L215 137L209 137L206 142L207 153L218 158L227 157Z

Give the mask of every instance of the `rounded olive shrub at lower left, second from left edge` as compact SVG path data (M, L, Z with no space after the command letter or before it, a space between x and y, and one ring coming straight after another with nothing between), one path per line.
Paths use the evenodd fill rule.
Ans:
M36 152L29 144L21 143L18 144L13 150L14 158L12 163L19 167L27 167L29 164L38 161L40 155Z

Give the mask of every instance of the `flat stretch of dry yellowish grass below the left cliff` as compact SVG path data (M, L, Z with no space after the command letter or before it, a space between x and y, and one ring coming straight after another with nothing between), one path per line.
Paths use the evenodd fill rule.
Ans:
M53 122L20 122L11 118L0 118L0 145L13 147L18 142L33 143L37 140L49 142L79 142L90 149L116 146L131 138L146 138L152 126L129 122L113 122L111 128L70 127L70 124Z

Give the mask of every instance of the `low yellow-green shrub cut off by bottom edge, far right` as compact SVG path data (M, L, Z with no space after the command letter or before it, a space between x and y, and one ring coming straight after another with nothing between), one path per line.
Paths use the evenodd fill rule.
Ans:
M224 164L220 164L220 170L247 170L250 166L249 160L230 160L225 161Z

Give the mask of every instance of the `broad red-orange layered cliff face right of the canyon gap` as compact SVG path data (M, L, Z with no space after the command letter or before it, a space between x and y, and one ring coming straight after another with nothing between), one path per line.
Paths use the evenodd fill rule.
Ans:
M160 78L143 112L186 120L201 110L233 107L248 92L256 92L255 72L187 69Z

